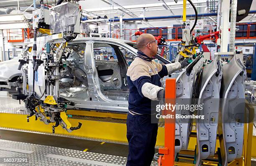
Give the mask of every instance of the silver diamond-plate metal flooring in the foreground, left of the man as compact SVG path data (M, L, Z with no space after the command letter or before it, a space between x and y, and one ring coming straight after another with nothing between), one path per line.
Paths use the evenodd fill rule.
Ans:
M127 158L65 148L0 140L0 158L28 158L13 166L124 166ZM0 163L0 166L6 164ZM152 162L151 166L157 166Z

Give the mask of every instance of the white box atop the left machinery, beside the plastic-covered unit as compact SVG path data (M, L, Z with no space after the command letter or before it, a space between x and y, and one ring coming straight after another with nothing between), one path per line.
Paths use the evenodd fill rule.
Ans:
M37 9L32 12L33 14L33 29L38 28L38 23L46 23L49 25L49 10L48 9Z

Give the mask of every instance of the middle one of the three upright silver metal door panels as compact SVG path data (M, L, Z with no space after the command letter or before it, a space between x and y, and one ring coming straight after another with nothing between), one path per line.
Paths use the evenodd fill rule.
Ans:
M198 105L202 110L197 110L197 115L204 115L204 119L197 119L197 164L201 165L202 159L214 156L220 106L220 86L222 68L217 57L204 67Z

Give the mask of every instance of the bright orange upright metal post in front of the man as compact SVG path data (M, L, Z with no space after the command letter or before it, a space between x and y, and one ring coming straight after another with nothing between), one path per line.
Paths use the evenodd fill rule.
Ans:
M175 105L176 79L166 79L165 102ZM164 148L159 148L159 153L164 154L159 158L162 166L174 166L175 155L175 110L164 110L164 115L170 114L173 118L164 122Z

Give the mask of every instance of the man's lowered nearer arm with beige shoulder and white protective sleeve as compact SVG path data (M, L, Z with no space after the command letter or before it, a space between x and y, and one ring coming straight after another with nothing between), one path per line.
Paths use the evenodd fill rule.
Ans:
M138 89L138 93L141 95L141 97L157 100L157 93L161 89L164 89L152 84L151 77L146 67L134 66L133 69L128 70L127 76L130 77L131 82Z

